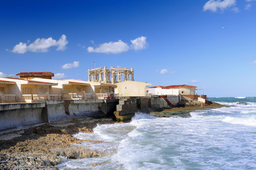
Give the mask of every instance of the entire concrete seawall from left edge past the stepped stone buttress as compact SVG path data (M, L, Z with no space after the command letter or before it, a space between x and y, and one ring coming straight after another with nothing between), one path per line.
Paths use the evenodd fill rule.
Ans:
M26 125L50 123L61 118L75 116L113 115L114 113L117 119L126 120L132 118L136 112L159 111L176 106L179 101L179 96L166 98L151 96L106 100L58 100L45 103L3 103L0 104L0 131Z

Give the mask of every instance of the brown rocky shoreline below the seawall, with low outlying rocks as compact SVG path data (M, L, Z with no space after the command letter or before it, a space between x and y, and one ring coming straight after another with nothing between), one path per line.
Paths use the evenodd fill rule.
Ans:
M220 107L225 106L213 103L212 106L191 105L164 111L189 112ZM78 132L91 133L97 124L112 123L117 121L112 118L79 117L0 135L0 169L57 169L56 165L66 158L105 157L106 155L98 150L85 149L79 145L82 142L102 141L78 140L72 135Z

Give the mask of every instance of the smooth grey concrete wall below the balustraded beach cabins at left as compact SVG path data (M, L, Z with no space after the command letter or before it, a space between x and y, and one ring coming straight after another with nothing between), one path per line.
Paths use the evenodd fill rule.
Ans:
M0 131L74 116L110 115L118 103L118 99L91 99L0 104Z

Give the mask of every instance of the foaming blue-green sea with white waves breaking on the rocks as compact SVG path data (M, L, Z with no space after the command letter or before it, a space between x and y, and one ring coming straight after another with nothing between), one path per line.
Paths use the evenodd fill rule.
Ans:
M105 157L66 159L58 169L256 169L256 97L208 98L230 107L192 111L190 118L136 113L130 123L78 133Z

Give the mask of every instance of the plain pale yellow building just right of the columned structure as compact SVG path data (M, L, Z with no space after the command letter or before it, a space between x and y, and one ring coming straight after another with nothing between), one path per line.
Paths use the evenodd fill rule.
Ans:
M116 85L114 93L119 96L146 96L146 86L151 86L149 83L139 81L122 81Z

